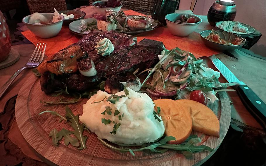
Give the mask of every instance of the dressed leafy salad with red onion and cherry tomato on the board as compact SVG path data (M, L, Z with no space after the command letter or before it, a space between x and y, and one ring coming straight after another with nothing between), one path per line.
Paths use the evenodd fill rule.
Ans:
M234 83L219 82L220 72L206 68L202 59L176 47L172 50L164 49L158 56L160 61L149 71L142 83L152 96L173 96L177 99L191 99L207 105L219 100L215 94L217 91L230 91L226 88ZM141 72L140 74L142 74ZM147 82L153 74L152 81ZM139 75L140 75L139 74Z

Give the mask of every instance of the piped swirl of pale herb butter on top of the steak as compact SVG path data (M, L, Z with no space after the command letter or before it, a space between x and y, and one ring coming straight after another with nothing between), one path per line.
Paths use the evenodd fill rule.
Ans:
M112 53L115 49L113 43L107 38L100 39L99 42L96 42L96 44L97 45L94 46L94 48L101 56L110 55L110 53Z

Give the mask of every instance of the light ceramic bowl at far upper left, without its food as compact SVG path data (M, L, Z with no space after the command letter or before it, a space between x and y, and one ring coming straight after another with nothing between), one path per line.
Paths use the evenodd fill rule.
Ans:
M54 15L53 13L41 13L41 14L44 15L49 20L52 20L53 15ZM60 20L56 23L38 25L38 24L29 23L30 16L31 15L24 17L22 19L22 22L27 26L27 28L29 28L29 30L32 33L44 39L56 36L60 32L62 28L63 20L64 20L64 16L60 15Z

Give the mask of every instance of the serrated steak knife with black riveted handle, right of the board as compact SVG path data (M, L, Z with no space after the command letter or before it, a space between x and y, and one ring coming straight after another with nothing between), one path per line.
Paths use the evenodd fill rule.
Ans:
M215 56L211 56L215 67L220 71L228 82L234 82L237 85L235 89L248 111L266 130L266 104L250 89L244 82L239 79Z

